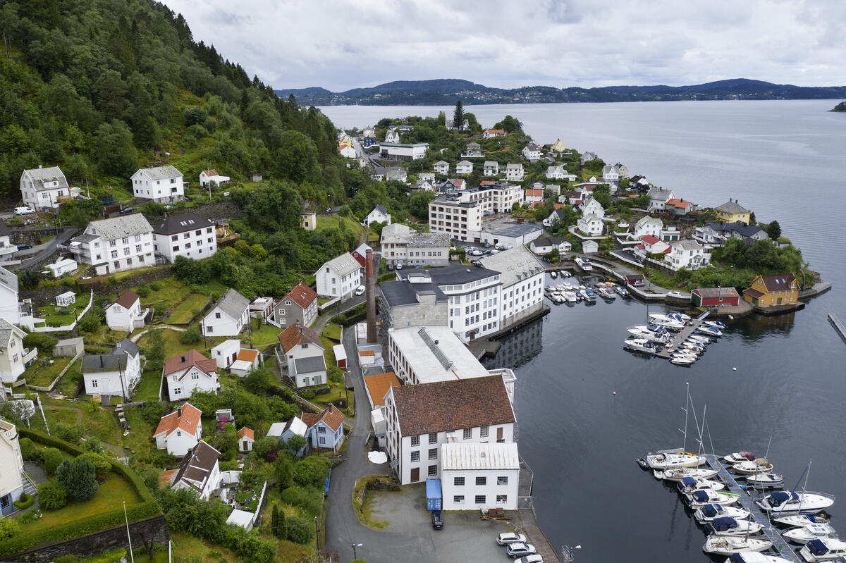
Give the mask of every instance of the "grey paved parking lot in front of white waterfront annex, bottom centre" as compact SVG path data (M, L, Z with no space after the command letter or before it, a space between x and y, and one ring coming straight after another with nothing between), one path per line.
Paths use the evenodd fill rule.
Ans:
M508 522L481 520L479 511L448 511L443 513L443 529L431 527L431 515L426 511L424 484L405 486L398 493L374 491L371 518L387 522L386 532L415 535L421 544L430 544L435 560L454 561L510 561L505 548L497 545L497 534L511 532ZM409 553L408 561L420 560Z

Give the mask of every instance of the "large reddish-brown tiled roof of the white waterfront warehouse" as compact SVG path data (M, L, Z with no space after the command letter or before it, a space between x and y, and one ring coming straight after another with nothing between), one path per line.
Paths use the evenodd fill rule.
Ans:
M514 423L502 375L393 387L404 436Z

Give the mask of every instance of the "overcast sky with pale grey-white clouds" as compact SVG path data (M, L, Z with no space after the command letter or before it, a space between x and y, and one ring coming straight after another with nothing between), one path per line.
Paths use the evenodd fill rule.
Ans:
M165 0L276 89L846 85L844 0Z

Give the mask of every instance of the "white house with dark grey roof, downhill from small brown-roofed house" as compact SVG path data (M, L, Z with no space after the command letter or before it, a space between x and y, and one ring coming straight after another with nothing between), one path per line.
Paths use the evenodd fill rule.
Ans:
M124 338L106 354L82 358L82 379L88 395L110 395L129 400L141 380L141 354L135 342Z

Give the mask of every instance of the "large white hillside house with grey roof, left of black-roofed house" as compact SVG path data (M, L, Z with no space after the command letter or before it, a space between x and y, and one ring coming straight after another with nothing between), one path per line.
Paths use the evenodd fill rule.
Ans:
M97 276L156 265L153 227L140 213L99 219L71 239L68 249L80 264L94 266Z

